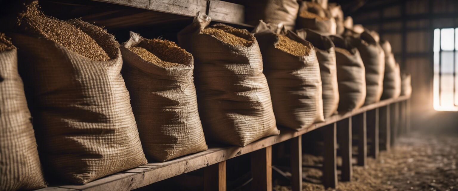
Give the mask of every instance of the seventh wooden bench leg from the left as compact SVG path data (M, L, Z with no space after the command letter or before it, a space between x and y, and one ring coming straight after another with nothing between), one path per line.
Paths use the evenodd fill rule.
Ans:
M378 108L367 111L368 138L371 138L369 155L378 158Z

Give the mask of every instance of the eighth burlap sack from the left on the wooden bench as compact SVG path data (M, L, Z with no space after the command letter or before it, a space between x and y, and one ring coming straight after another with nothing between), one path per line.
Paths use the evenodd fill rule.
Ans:
M365 30L360 38L350 37L351 44L361 54L366 72L365 105L380 101L383 92L383 76L385 74L385 53L371 32Z

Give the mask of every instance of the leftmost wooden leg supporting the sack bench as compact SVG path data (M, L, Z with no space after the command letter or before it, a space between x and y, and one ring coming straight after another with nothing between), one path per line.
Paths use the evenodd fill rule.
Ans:
M226 191L226 161L204 168L204 191Z

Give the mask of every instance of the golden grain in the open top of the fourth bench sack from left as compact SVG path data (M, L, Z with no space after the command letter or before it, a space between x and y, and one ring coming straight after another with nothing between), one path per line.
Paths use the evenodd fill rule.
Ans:
M208 34L221 40L227 44L232 45L241 45L245 47L250 47L253 44L254 38L252 35L245 30L238 28L230 27L227 25L213 25L212 27L207 27L202 31L203 34Z

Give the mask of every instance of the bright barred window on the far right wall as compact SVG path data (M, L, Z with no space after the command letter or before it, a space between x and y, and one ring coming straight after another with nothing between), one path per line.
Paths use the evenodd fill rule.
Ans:
M434 30L434 109L458 111L458 28Z

